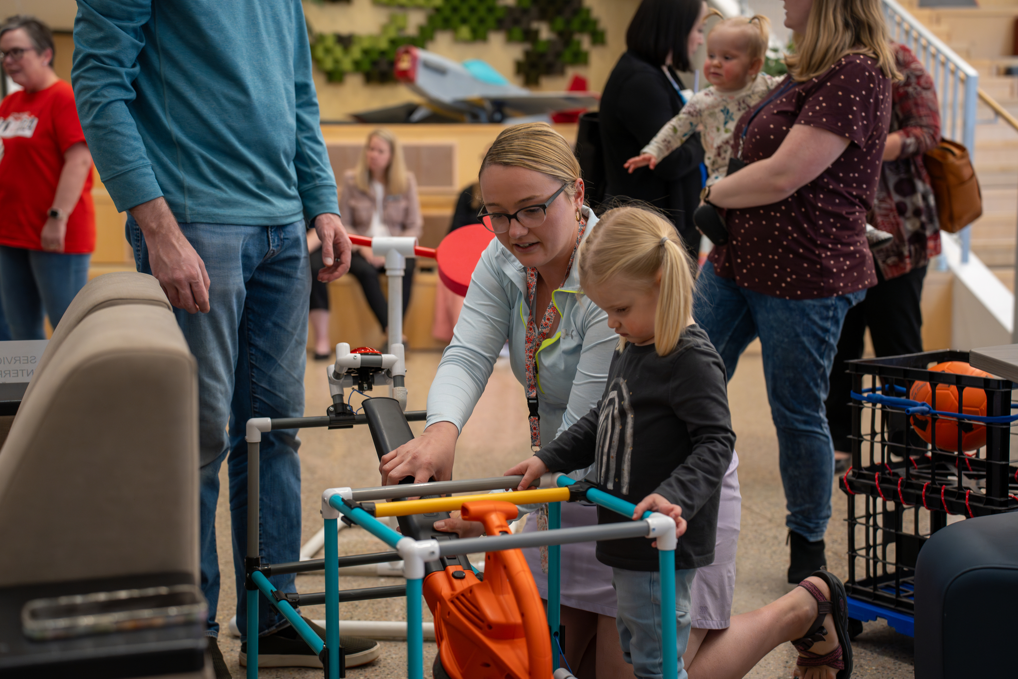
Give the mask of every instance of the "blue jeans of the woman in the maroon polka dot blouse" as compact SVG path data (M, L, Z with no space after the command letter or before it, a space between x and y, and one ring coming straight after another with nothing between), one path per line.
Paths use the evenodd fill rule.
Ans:
M693 318L731 379L739 356L760 338L771 417L778 430L785 525L809 542L831 518L834 446L824 402L845 315L865 290L821 299L781 299L739 287L708 262L696 279Z

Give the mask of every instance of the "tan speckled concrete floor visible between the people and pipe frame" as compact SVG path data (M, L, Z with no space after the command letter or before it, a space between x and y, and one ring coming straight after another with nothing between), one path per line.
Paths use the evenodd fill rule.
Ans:
M407 358L407 387L410 409L423 409L428 387L438 365L437 352L411 352ZM324 414L331 402L323 363L308 361L305 377L306 414ZM359 397L357 397L359 398ZM729 385L729 399L735 432L736 449L741 460L739 479L742 486L742 533L739 541L738 576L733 614L751 611L789 591L785 583L788 548L785 547L784 494L778 472L778 447L764 385L758 345L743 355L739 369ZM457 447L456 478L471 478L501 474L529 454L526 411L523 392L509 369L508 361L499 360L488 389L477 404L470 421L463 429ZM419 433L422 423L411 425ZM305 430L301 435L302 461L302 541L322 525L319 515L322 491L327 488L377 486L378 461L366 428L329 432ZM230 664L233 676L244 676L238 666L239 639L225 632L226 623L235 613L235 589L230 553L230 516L226 497L226 467L223 466L224 493L217 513L217 541L220 546L220 568L223 573L218 619L224 631L220 647ZM845 500L837 489L834 493L834 518L827 534L830 568L840 577L846 575ZM358 528L340 533L340 554L381 551L381 542ZM394 578L341 578L343 588L394 584ZM297 578L300 591L322 591L319 575ZM346 620L404 620L404 600L379 600L340 605L340 617ZM324 607L305 607L305 616L325 618ZM431 616L425 608L426 619ZM912 677L912 639L897 633L883 621L865 623L864 632L856 639L854 677L896 679ZM436 653L434 643L425 644L425 667L430 668ZM791 677L796 653L784 644L768 655L747 677ZM361 668L348 671L354 679L382 679L405 676L405 650L402 642L383 642L382 657ZM307 678L321 677L321 670L265 669L261 676Z

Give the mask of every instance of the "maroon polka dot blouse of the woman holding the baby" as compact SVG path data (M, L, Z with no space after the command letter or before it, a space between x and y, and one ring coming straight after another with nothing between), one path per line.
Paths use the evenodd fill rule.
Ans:
M739 120L734 138L748 118L747 113ZM865 223L890 121L891 81L862 55L843 57L768 104L749 125L745 161L773 156L792 125L842 134L849 145L824 173L784 201L729 210L729 242L711 253L718 275L786 299L831 297L875 285Z

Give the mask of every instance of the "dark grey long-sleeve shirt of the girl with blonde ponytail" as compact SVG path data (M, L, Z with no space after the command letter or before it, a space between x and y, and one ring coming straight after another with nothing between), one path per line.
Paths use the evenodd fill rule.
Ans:
M690 326L667 356L653 344L613 354L601 401L538 457L553 471L593 463L598 485L623 500L659 493L679 505L688 522L675 553L683 569L714 562L721 482L734 446L724 362L706 333ZM598 520L629 517L599 507ZM658 570L657 550L644 537L598 543L597 554L616 568Z

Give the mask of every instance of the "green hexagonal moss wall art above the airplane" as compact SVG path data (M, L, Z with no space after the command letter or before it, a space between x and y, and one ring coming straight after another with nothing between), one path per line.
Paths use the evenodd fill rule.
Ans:
M366 82L394 82L396 50L403 45L427 49L436 31L452 31L460 42L485 42L489 33L503 31L508 42L527 44L523 59L516 62L516 74L527 86L539 84L543 75L562 75L568 65L585 65L588 53L581 36L588 36L590 45L605 44L605 32L583 0L515 0L511 5L498 0L374 2L394 9L426 9L427 20L416 35L407 34L407 15L398 12L389 15L378 35L313 34L312 56L330 81L342 82L346 73L363 73ZM539 21L548 24L552 37L541 38Z

